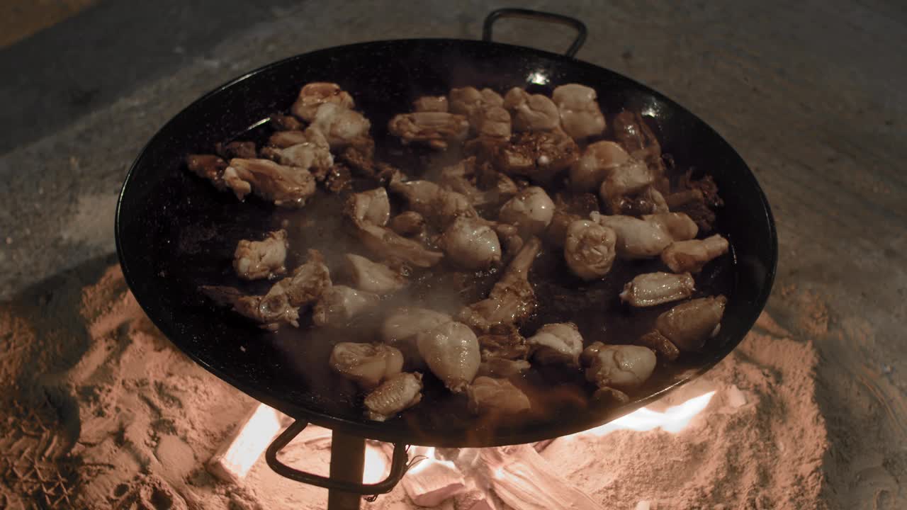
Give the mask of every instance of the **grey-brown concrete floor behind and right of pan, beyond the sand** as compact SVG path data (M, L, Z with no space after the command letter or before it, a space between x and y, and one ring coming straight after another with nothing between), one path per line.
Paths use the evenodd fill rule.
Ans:
M129 164L201 93L322 47L476 38L483 16L503 5L102 2L5 48L0 299L109 260L113 208ZM818 397L834 444L830 502L907 507L907 4L523 5L584 20L590 37L580 59L666 93L749 162L779 230L769 310L796 329L797 303L828 303L816 312L826 327L800 332L813 337L823 360ZM497 33L555 51L570 39L567 30L522 22Z

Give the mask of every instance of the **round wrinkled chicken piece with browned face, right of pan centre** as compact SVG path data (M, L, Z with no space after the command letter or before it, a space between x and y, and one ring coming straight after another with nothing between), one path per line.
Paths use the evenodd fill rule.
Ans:
M573 221L564 239L564 260L567 267L582 280L603 278L616 255L617 234L591 220Z

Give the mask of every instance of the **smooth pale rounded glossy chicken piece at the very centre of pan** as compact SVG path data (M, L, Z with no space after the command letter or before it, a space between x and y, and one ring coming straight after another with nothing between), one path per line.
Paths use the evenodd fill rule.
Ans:
M467 270L486 270L501 261L501 243L487 221L461 216L451 223L438 246L454 264Z

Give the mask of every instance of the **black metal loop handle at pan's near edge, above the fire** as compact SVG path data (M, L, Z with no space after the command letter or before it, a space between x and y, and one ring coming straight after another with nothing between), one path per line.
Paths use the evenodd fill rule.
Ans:
M331 491L360 495L378 495L391 492L395 485L400 482L400 478L404 476L406 472L407 456L406 446L402 443L394 444L394 455L391 459L390 474L384 480L376 484L356 484L335 480L327 476L312 475L311 473L299 471L298 469L280 462L278 460L278 452L287 446L294 437L298 436L307 425L308 422L302 420L293 422L292 425L287 427L287 430L280 433L280 435L274 439L274 442L268 446L268 450L265 452L265 460L268 461L268 466L278 475L303 484L325 487Z

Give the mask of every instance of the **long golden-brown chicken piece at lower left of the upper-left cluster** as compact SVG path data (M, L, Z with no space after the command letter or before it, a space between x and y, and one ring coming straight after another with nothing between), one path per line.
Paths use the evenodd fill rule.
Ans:
M223 179L239 200L254 192L280 207L303 207L315 194L315 178L306 169L269 160L232 159Z

